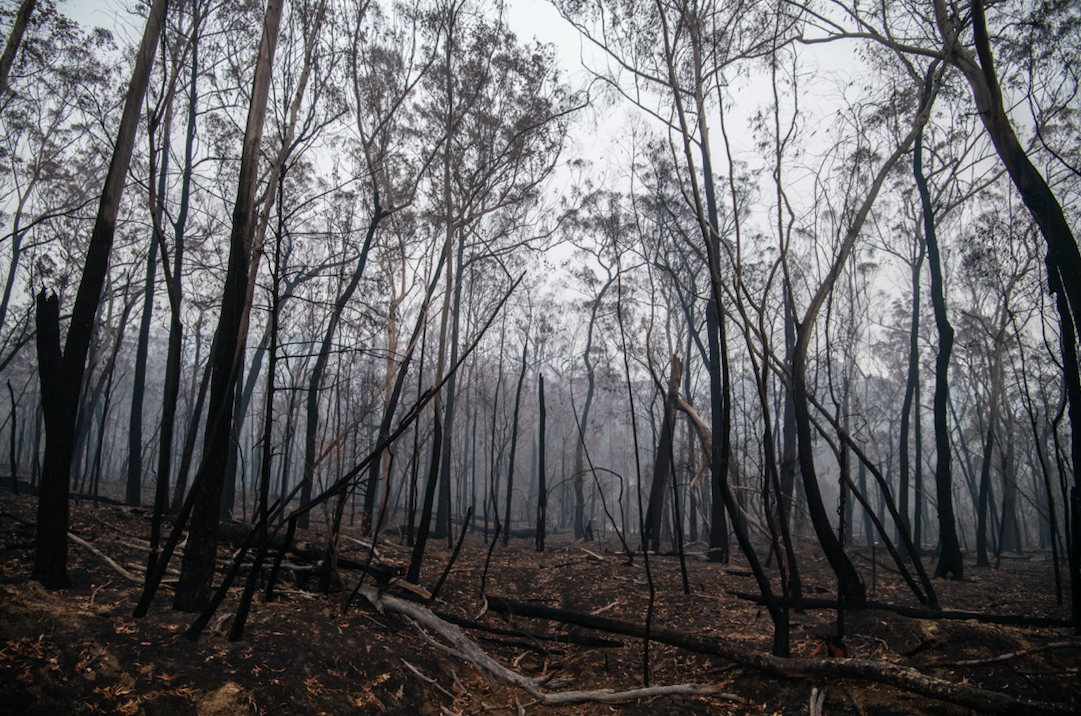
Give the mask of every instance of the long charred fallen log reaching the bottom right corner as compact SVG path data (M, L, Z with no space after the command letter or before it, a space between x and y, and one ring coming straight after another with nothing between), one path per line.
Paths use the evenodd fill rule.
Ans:
M580 612L542 607L521 601L485 595L488 608L494 612L547 619L576 624L613 634L625 634L645 638L645 627L641 624L624 622L604 616L592 616ZM696 653L721 657L744 666L750 666L768 674L785 678L855 678L876 684L885 684L922 697L945 701L989 714L1081 714L1075 704L1051 703L1018 699L998 691L988 691L969 684L956 684L927 676L909 666L869 659L808 659L782 658L757 651L735 641L720 637L685 634L676 629L651 628L649 638L659 644L680 647Z

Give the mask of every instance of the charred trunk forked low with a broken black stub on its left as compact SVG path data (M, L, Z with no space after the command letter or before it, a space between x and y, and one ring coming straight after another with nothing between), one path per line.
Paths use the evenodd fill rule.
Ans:
M97 218L86 249L86 263L71 310L71 322L63 353L59 347L59 302L55 296L46 299L44 290L38 296L39 326L46 329L38 335L39 360L42 356L45 358L45 362L39 366L42 395L52 393L52 399L42 400L45 409L45 458L38 501L38 542L32 578L51 589L68 585L68 489L78 396L94 330L94 317L109 268L117 213L135 144L143 97L146 95L168 6L168 0L154 0L143 30L143 41L128 85L117 143L102 189ZM43 342L48 345L43 345ZM48 383L52 385L46 388Z

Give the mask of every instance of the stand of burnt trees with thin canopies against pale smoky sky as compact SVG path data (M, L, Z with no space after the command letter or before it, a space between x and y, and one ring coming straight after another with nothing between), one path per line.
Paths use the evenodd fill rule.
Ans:
M142 49L3 3L35 575L75 492L154 508L151 571L190 527L187 609L219 519L413 581L469 520L739 551L782 634L799 535L852 606L848 544L931 606L1050 548L1081 616L1078 4L555 6L582 67L494 2L138 2Z

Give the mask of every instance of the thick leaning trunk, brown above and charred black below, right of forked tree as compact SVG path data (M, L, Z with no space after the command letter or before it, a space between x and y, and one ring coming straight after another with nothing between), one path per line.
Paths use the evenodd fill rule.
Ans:
M266 116L267 96L278 27L284 0L269 0L263 21L258 59L255 66L252 100L248 109L243 148L240 156L240 177L237 183L237 201L232 210L232 231L229 238L229 263L222 295L214 347L211 352L210 403L206 432L203 438L203 458L191 486L191 523L188 544L181 565L181 579L176 585L173 608L196 611L206 606L211 596L214 574L214 555L217 549L218 509L222 486L228 462L229 430L232 422L232 402L237 385L237 370L243 355L248 332L248 273L251 261L251 241L255 217L255 188L258 181L259 143L263 137L263 119ZM182 511L183 515L183 511ZM184 520L179 520L183 523ZM178 536L178 535L175 535ZM174 542L171 538L170 542ZM168 561L166 548L164 558ZM157 571L161 571L159 566ZM148 576L147 586L151 585ZM148 606L148 605L147 605ZM141 608L143 605L141 604Z

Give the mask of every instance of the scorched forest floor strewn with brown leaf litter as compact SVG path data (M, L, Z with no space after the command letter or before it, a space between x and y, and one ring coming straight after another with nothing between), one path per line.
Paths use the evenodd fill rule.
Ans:
M34 559L36 499L0 494L0 712L23 714L117 713L231 716L233 714L805 714L812 691L825 691L823 714L970 714L893 687L854 679L782 679L717 657L652 644L650 682L698 684L718 695L663 695L615 704L551 706L507 682L489 682L472 665L437 650L401 616L381 614L358 598L343 610L343 593L317 594L317 580L285 583L280 600L256 599L242 639L227 634L239 600L240 581L196 641L185 638L195 614L173 611L163 589L150 613L133 619L139 595L103 559L70 545L70 589L48 592L29 580ZM132 571L146 559L137 545L150 529L148 511L72 503L70 531ZM348 533L348 530L347 530ZM611 533L610 533L611 536ZM318 534L297 535L317 541ZM349 543L356 545L356 543ZM133 546L134 545L134 546ZM485 592L548 607L644 621L649 585L643 559L632 565L618 542L572 542L549 538L538 554L533 541L512 539L492 554ZM691 545L692 553L702 545ZM642 686L641 639L602 634L557 622L484 613L480 586L488 547L479 534L465 542L439 599L444 614L479 620L492 627L549 636L571 635L618 641L584 646L529 636L496 636L466 628L490 655L525 676L553 675L559 689L627 690ZM359 546L346 549L363 559ZM800 546L806 596L829 597L833 581L810 541ZM852 548L868 597L918 606L912 594L878 553ZM404 569L409 553L387 545L383 562ZM422 584L431 588L450 559L445 541L432 542ZM229 549L219 553L224 561ZM929 569L933 568L930 559ZM683 593L679 558L651 556L656 589L653 623L692 634L721 636L768 652L772 624L764 609L731 594L756 593L746 562L686 562L690 594ZM775 573L775 568L771 573ZM1037 553L1003 559L1001 569L965 565L966 580L935 580L945 608L999 614L1068 619L1056 604L1050 556ZM356 579L355 574L346 574ZM395 587L390 594L403 595ZM791 615L792 655L829 658L836 629L833 610ZM973 620L939 621L867 610L845 619L849 655L912 666L924 674L1012 695L1073 704L1081 641L1072 629L1002 626ZM1063 646L1060 642L1068 642ZM943 662L986 660L1025 649L1033 653L995 664L958 666ZM557 687L551 687L553 690ZM725 697L720 695L726 694ZM1018 713L1017 716L1020 716Z

